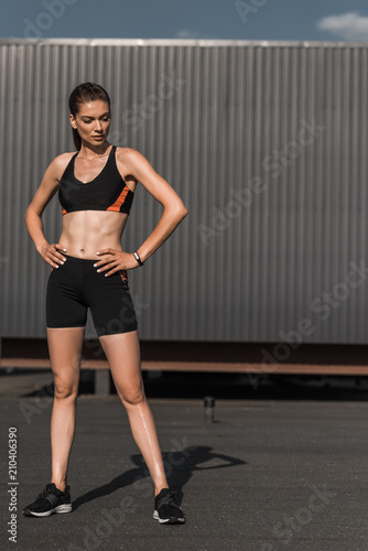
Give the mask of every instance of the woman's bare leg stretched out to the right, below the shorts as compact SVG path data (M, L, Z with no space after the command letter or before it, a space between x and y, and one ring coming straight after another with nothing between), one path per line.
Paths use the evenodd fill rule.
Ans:
M133 439L154 483L154 495L169 488L151 409L144 395L138 332L99 337L112 379L129 418Z

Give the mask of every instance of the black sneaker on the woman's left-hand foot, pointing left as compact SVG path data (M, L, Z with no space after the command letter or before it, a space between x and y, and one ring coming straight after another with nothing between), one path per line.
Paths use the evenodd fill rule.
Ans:
M65 491L56 488L54 483L46 484L37 499L22 510L26 517L50 517L53 512L71 512L72 501L69 486Z

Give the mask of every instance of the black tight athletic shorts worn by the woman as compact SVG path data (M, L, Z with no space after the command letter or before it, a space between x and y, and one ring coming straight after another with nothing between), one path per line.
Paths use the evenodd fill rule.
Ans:
M47 327L84 327L90 309L98 336L128 333L138 327L127 270L105 277L98 260L71 257L52 268L46 291Z

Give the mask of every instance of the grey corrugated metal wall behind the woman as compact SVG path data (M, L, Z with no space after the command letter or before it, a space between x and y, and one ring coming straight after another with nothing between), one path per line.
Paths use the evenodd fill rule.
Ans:
M3 40L0 52L2 336L45 336L50 269L23 215L52 159L74 151L71 90L94 80L112 99L109 141L141 151L190 210L129 272L141 338L368 342L368 44ZM130 251L162 212L137 190ZM43 220L57 241L57 196Z

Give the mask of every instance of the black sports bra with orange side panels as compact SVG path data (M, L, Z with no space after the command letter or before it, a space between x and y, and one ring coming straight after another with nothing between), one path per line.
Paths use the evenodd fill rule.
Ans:
M101 172L87 183L74 175L74 161L79 151L72 156L59 181L58 201L63 215L76 210L112 210L129 215L134 192L128 187L118 171L115 151L116 145L112 145Z

